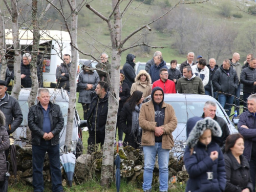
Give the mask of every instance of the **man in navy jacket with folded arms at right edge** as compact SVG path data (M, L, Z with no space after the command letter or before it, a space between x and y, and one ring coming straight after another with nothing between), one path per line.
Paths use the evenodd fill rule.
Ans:
M244 137L244 156L250 165L250 175L255 192L256 179L256 94L248 97L248 111L240 115L238 132Z

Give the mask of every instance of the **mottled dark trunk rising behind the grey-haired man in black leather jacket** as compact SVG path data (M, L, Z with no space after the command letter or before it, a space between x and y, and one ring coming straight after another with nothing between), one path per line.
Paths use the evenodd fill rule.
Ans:
M33 25L33 46L32 46L32 60L30 62L30 74L32 80L31 92L29 94L28 104L33 106L35 104L36 94L38 90L38 77L37 77L37 54L40 41L40 33L37 20L37 0L32 0L32 25Z

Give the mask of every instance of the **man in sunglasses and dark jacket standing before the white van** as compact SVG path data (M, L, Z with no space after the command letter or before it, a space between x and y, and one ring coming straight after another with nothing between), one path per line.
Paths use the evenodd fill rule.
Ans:
M61 63L56 69L57 88L63 88L69 92L69 71L71 66L71 57L69 54L63 55L65 62Z

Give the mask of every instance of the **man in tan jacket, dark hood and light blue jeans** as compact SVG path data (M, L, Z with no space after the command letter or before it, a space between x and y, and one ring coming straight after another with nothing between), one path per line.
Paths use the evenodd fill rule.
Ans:
M171 105L165 103L163 90L155 87L151 100L142 104L139 125L142 131L141 145L144 152L143 190L151 191L155 157L158 154L159 191L168 190L169 151L174 146L172 132L177 127L177 118Z

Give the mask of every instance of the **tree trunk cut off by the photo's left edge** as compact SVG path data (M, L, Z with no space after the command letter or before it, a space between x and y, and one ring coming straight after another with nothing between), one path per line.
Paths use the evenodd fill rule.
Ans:
M1 80L5 80L6 68L7 63L5 59L5 23L4 23L4 14L0 10L0 59L1 59L1 66L0 66L0 76Z

